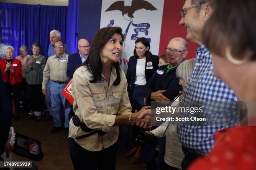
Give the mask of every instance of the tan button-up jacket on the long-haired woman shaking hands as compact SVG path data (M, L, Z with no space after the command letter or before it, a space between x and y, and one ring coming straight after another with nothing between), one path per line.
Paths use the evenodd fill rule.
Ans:
M86 150L99 151L108 148L118 140L119 127L113 126L116 115L131 114L131 104L127 93L127 80L121 71L120 84L115 86L116 70L113 67L110 82L102 75L102 80L91 83L92 74L86 66L79 67L72 80L73 110L80 122L88 128L102 130L105 135L94 134L86 138L75 138L87 134L69 122L69 137Z

